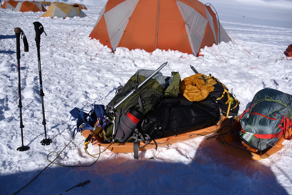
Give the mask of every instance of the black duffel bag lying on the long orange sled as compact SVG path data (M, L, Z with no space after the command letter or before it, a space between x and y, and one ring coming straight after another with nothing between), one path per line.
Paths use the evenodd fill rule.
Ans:
M141 133L158 139L213 126L219 119L219 106L211 96L191 102L179 95L175 99L164 99L147 113Z

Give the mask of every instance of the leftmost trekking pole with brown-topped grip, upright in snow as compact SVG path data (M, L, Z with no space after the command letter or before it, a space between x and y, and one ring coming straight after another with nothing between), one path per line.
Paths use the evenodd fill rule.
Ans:
M17 72L18 72L18 107L19 107L19 116L20 116L20 131L21 131L21 142L22 146L18 147L18 151L27 151L29 149L29 146L23 145L23 128L24 125L22 123L22 103L21 103L21 86L20 86L20 33L23 33L23 31L16 27L14 29L15 35L16 35L16 58L17 58ZM24 34L23 34L24 35ZM25 52L28 51L28 44L26 38L23 38L23 41L26 41L25 45ZM27 48L26 48L27 46Z

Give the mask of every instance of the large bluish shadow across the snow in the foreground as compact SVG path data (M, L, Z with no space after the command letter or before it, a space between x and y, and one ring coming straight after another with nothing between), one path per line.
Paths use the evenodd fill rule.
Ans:
M40 171L0 176L2 193L14 193ZM18 194L60 194L86 180L91 182L68 194L288 194L270 167L233 156L215 140L204 140L188 164L118 156L91 167L53 165Z

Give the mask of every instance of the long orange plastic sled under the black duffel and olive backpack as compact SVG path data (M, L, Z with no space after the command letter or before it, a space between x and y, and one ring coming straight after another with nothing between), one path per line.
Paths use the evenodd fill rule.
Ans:
M233 122L232 119L228 119L227 117L223 116L222 121L217 125L213 125L207 128L203 128L200 130L190 131L188 133L179 134L176 136L164 137L156 139L158 147L170 145L177 142L182 142L185 140L193 139L194 137L202 136L202 135L209 135L211 133L219 132L223 127L229 126ZM91 133L91 130L83 130L82 135L87 138L88 135ZM102 139L98 136L95 136L94 142L102 142ZM127 143L119 143L114 142L111 143L97 143L95 145L100 145L101 147L109 147L108 149L115 153L130 153L133 152L133 142ZM139 151L147 150L155 148L155 143L152 140L149 144L145 144L144 142L139 142Z

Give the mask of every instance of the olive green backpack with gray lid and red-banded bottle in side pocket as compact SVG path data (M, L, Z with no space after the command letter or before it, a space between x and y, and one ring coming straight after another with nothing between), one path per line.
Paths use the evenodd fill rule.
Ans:
M124 86L118 88L116 95L107 105L106 113L111 122L102 133L104 139L118 142L134 141L131 136L134 132L139 132L145 114L159 105L162 98L178 96L180 85L178 72L172 72L172 76L163 76L161 72L158 72L140 89L137 89L137 86L153 72L153 70L139 69ZM117 109L113 109L114 105L135 88L135 93L121 103ZM113 129L115 130L113 131Z

